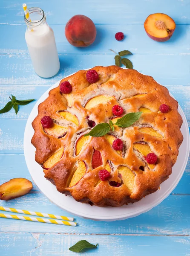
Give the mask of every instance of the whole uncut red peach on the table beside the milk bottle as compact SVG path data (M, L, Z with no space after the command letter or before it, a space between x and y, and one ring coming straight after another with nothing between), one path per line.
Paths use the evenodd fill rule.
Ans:
M65 36L73 46L89 46L96 38L95 24L89 17L75 15L66 23Z

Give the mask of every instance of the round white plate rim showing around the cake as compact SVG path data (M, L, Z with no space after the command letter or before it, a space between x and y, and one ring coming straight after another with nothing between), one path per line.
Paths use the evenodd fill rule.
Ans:
M59 81L49 88L49 90L57 87L58 85ZM141 213L147 212L160 204L161 201L170 195L184 173L190 148L189 128L180 106L178 107L178 111L183 119L181 132L184 136L184 140L179 148L178 159L172 168L172 174L170 175L169 179L160 185L160 190L153 194L147 195L145 198L135 204L128 204L122 207L96 207L90 206L89 204L79 203L72 197L65 196L58 192L56 187L44 178L42 167L35 162L35 147L31 144L31 139L34 134L32 121L37 116L38 105L48 97L49 90L47 90L41 96L30 113L24 132L24 155L32 179L41 192L46 195L50 201L58 205L60 208L82 218L88 218L95 221L116 221L135 217Z

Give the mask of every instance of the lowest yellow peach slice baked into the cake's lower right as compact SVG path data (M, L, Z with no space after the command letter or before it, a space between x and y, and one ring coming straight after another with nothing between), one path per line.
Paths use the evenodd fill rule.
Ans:
M121 174L124 184L132 192L135 182L134 173L127 166L119 166L118 172Z

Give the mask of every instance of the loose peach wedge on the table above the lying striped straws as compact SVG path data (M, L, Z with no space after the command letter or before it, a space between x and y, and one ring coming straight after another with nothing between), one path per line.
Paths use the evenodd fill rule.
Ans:
M26 195L32 189L32 182L24 178L15 178L0 186L0 200L10 200Z

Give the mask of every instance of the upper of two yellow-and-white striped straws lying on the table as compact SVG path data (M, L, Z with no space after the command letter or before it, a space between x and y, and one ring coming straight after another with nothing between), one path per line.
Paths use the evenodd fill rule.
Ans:
M34 216L39 216L39 217L55 218L55 219L64 220L64 221L73 221L74 220L74 218L66 217L66 216L48 214L48 213L43 213L43 212L32 212L32 211L8 208L8 207L3 207L3 206L0 206L0 210L6 211L6 212L23 213L23 214L34 215Z

